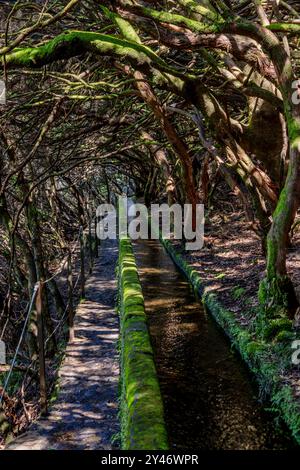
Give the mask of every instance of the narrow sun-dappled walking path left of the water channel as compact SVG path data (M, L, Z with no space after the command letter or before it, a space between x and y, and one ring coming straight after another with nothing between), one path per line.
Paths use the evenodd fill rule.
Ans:
M115 312L117 242L103 242L75 317L76 340L66 349L60 392L45 419L7 446L10 450L112 449L119 431L119 324Z

